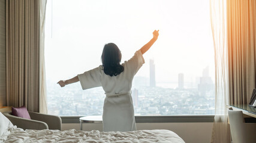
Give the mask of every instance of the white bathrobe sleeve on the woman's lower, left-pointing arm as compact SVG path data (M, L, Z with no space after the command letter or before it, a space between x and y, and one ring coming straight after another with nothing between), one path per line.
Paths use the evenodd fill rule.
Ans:
M85 71L85 73L77 75L83 90L102 86L101 85L101 75L103 72L102 69L103 67L99 66L95 69Z

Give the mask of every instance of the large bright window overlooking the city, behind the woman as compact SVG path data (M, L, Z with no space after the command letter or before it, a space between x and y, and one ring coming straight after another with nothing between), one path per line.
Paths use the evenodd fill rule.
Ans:
M49 114L101 115L104 91L56 84L101 64L106 43L122 61L152 38L134 77L135 115L214 114L214 57L209 1L48 1L46 78Z

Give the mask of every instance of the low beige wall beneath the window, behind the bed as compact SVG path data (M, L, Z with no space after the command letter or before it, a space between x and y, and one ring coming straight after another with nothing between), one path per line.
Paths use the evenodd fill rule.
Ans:
M136 123L137 130L142 129L167 129L180 136L185 142L205 143L210 142L213 123ZM64 123L62 130L80 130L79 123ZM101 123L83 123L83 130L101 130Z

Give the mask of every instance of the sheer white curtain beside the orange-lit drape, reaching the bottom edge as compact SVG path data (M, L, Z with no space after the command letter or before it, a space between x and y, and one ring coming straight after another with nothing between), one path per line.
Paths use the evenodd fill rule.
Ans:
M210 22L212 26L215 54L215 118L211 142L230 142L228 126L228 64L227 64L227 2L210 0Z

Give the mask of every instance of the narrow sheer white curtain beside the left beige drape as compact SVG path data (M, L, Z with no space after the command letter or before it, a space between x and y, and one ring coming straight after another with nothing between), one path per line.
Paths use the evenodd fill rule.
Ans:
M40 113L47 114L47 92L46 92L46 72L44 64L44 24L46 21L46 2L47 0L40 0Z

